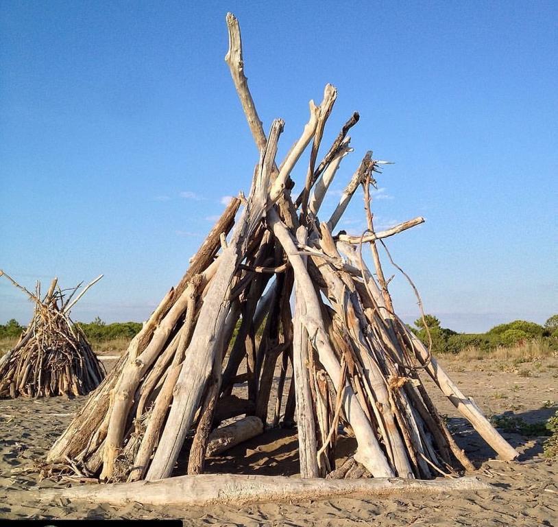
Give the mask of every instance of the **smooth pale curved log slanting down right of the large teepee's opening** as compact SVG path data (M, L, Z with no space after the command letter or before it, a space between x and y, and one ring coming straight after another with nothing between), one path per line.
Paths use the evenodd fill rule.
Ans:
M304 266L302 257L298 254L295 241L291 233L287 230L287 227L280 221L274 209L269 210L267 213L267 224L273 230L274 235L276 235L287 254L295 273L295 280L299 281L301 290L304 293L307 315L304 317L303 322L306 326L306 331L308 331L308 335L311 336L313 340L314 347L317 349L319 361L322 362L324 368L326 368L333 384L335 386L340 386L341 366L337 361L335 351L333 351L331 347L324 327L322 310L319 305L313 281ZM393 471L389 467L389 463L378 444L374 430L372 430L372 426L348 382L345 382L343 407L345 409L345 416L350 422L356 435L356 441L359 444L355 458L358 458L374 476L393 477Z

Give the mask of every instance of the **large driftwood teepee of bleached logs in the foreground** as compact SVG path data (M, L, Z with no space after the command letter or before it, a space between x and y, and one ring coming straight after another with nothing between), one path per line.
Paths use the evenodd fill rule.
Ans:
M287 399L283 420L295 417L303 478L344 478L355 464L359 476L375 478L429 479L472 469L422 375L433 379L502 458L515 458L517 452L393 310L376 244L424 220L374 230L370 187L380 162L372 152L332 214L320 217L324 196L351 151L347 133L358 114L319 158L337 97L328 84L321 104L310 102L300 139L277 163L284 123L274 121L265 135L243 73L239 25L230 14L227 21L226 62L260 151L250 194L231 200L180 283L53 445L49 461L71 460L83 476L103 480L159 480L171 476L186 447L188 474L197 475L217 452L219 436L230 445L261 433L264 425L278 425ZM291 176L308 146L302 190L294 197ZM359 187L367 231L354 237L337 226ZM372 250L373 270L363 260L363 246ZM247 373L239 374L243 360ZM289 362L293 377L287 388ZM232 393L239 382L247 383L246 397ZM232 418L232 428L219 428ZM341 426L358 448L348 465L336 467ZM172 491L171 485L172 479L165 487L167 501L184 490L177 484ZM243 489L255 493L256 487L255 480L246 480ZM145 487L145 494L160 488ZM181 497L188 498L193 499Z

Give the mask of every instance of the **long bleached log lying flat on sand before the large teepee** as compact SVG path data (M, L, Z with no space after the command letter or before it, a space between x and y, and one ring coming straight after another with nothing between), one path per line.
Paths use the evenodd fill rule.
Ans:
M315 500L330 496L358 494L389 496L393 494L441 494L487 491L492 487L468 476L450 480L407 480L373 478L359 480L324 480L322 478L288 478L286 476L239 476L236 474L199 474L158 481L137 481L70 489L41 489L37 499L49 502L64 497L95 503L123 505L204 506L214 504L252 504Z

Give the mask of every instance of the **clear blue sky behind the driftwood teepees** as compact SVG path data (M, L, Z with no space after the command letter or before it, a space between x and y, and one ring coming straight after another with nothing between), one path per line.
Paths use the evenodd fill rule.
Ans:
M389 248L427 312L457 331L544 322L558 312L557 5L2 0L0 268L27 287L104 273L73 318L149 316L257 161L223 61L230 10L265 128L286 121L279 158L330 82L323 144L361 114L334 190L366 150L395 162L376 224L426 217ZM341 228L362 220L359 191ZM404 278L391 290L414 320ZM31 309L0 279L0 323Z

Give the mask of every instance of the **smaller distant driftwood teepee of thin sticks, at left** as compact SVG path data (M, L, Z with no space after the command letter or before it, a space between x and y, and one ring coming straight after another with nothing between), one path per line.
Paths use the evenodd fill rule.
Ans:
M40 282L33 294L0 271L35 303L33 318L16 346L0 358L0 397L85 395L99 386L105 373L82 329L69 317L80 294L77 285L64 294L55 278L41 298Z

